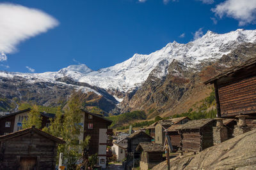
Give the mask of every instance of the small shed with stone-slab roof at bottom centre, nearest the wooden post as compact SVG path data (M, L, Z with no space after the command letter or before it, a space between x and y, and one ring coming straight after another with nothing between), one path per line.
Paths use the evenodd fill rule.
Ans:
M140 153L140 169L147 170L163 161L163 145L158 143L140 143L136 152Z

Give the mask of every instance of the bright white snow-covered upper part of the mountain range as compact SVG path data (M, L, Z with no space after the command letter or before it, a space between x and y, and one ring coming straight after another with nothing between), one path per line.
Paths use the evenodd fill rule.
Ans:
M0 76L19 75L28 79L42 81L55 81L56 78L68 76L75 81L86 82L103 89L119 90L127 92L143 83L150 72L162 60L167 63L173 59L180 60L187 67L195 68L204 60L220 59L223 54L230 53L242 43L255 43L256 30L237 29L226 34L217 34L208 31L202 38L187 44L175 41L168 43L161 50L149 55L134 54L130 59L115 66L106 67L99 71L92 71L85 64L68 66L58 72L47 73L0 73ZM165 76L166 71L159 73L159 77Z

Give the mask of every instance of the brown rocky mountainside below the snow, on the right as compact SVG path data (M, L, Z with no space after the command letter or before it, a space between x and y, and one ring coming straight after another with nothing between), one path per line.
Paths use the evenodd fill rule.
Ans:
M200 66L196 66L196 70L179 60L173 60L170 64L163 60L159 67L164 66L166 76L157 77L159 67L156 67L132 97L125 97L121 103L122 112L145 110L148 117L153 118L156 115L167 116L188 111L193 104L211 92L204 81L251 57L256 57L256 45L245 43L215 62L205 60Z

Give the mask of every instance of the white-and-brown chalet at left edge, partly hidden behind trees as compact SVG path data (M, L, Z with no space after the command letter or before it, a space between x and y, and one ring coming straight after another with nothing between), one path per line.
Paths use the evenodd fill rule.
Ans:
M0 117L0 136L12 132L17 132L22 129L22 121L28 118L30 108L26 110L17 111ZM50 118L54 118L55 114L40 112L42 118L42 128L50 125Z

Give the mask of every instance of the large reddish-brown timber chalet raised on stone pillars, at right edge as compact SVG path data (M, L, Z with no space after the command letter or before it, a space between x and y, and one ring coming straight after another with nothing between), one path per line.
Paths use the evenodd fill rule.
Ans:
M248 119L256 118L256 57L230 67L204 83L214 84L218 117L248 115ZM253 126L252 120L248 122Z

